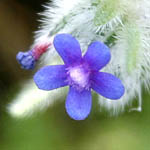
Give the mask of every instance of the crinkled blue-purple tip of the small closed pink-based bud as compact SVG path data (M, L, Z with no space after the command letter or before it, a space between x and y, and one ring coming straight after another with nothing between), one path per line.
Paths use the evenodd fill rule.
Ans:
M32 51L19 52L16 56L17 61L23 69L34 69L36 60L32 55Z

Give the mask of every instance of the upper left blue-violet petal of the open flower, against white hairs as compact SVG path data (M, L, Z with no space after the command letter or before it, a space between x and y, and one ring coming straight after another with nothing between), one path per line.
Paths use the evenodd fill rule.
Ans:
M65 64L73 64L81 59L78 41L70 34L58 34L54 38L54 46Z

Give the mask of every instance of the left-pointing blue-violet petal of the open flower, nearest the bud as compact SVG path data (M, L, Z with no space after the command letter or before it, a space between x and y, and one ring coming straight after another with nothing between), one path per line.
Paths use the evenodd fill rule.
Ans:
M53 90L66 86L66 70L64 65L46 66L34 75L34 82L39 89Z

